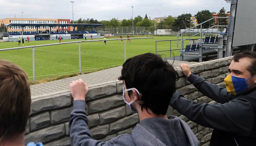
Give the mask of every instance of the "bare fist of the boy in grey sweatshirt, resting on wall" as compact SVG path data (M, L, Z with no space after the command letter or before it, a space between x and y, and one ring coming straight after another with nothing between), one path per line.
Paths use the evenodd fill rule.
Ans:
M73 81L69 84L71 95L75 100L84 100L85 96L87 95L89 91L89 87L84 81L80 78L79 80Z

